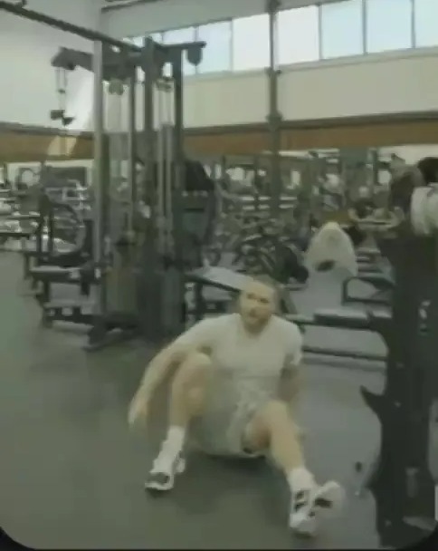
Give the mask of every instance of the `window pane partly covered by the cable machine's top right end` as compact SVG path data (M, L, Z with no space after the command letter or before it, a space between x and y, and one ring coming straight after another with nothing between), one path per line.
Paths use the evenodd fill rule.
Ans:
M231 21L198 27L197 39L206 43L198 73L220 73L231 69Z

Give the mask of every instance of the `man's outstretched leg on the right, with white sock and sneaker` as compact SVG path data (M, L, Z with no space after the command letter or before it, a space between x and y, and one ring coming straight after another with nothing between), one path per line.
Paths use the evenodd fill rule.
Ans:
M284 473L292 498L290 527L302 535L313 535L319 509L339 507L343 491L336 482L319 486L306 468L300 429L282 401L270 401L257 412L247 427L244 444L250 449L269 449L271 458Z

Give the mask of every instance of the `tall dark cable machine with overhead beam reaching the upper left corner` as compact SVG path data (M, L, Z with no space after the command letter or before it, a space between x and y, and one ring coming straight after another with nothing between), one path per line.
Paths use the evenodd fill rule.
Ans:
M181 242L186 182L182 65L184 55L189 63L200 63L205 43L162 45L146 38L141 46L136 46L3 0L0 0L0 10L76 34L94 44L93 54L62 48L52 59L52 66L61 71L82 67L94 74L94 254L91 266L97 295L88 348L95 350L136 335L156 344L181 333L186 319ZM145 75L139 85L138 69ZM142 96L139 112L138 93ZM110 189L111 177L117 175L111 175L109 148L111 140L119 140L120 136L117 131L109 135L108 94L119 94L120 98L126 94L128 99L126 147L117 148L117 155L123 159L117 160L116 170L119 175L123 165L127 171L127 211ZM171 113L169 120L163 121L156 116L160 111L156 109L157 97L167 102L166 111ZM163 113L161 110L161 115ZM138 160L142 165L139 179ZM111 163L114 161L111 158ZM116 206L111 205L114 201L118 202ZM117 237L111 235L109 213L113 207L127 215ZM129 302L135 304L135 311L131 308L115 311L111 307L114 302L111 293L117 292L121 285L115 275L116 256L123 256L125 272L133 275L133 279L131 277L129 283L125 281L123 285L129 287L124 291L130 294ZM119 285L111 285L114 277Z

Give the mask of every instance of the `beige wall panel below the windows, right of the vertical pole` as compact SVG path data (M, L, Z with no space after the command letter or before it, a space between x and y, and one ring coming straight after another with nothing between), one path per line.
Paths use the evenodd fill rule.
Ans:
M288 121L431 111L438 108L438 49L386 53L285 71Z

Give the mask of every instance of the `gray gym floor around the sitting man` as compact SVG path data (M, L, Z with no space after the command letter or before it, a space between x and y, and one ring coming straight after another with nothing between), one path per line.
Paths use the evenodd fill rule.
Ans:
M0 270L0 519L15 540L57 549L376 548L374 505L354 497L354 463L367 462L377 446L377 423L358 389L378 390L379 372L307 366L300 417L309 465L321 480L340 480L349 502L344 517L305 543L287 529L287 488L262 463L194 455L171 495L147 496L143 478L164 415L148 442L126 422L147 351L131 343L84 353L80 333L39 326L38 307L23 294L19 256L1 254Z

